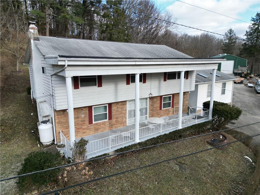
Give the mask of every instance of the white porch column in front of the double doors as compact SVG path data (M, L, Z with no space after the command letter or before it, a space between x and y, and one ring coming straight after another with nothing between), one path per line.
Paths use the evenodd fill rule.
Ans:
M139 142L139 118L140 118L140 101L139 101L139 75L135 74L135 142Z

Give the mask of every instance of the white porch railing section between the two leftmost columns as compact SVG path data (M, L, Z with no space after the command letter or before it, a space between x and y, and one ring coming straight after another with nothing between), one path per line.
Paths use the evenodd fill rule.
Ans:
M100 151L102 149L109 148L117 145L124 145L124 143L135 140L135 130L122 132L116 135L112 135L106 138L90 141L87 145L87 154Z

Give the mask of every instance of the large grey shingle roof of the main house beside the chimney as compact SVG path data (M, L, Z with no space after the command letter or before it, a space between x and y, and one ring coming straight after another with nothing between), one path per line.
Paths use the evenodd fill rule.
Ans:
M34 41L43 56L77 56L88 58L163 59L193 58L165 45L94 41L61 37L39 36Z

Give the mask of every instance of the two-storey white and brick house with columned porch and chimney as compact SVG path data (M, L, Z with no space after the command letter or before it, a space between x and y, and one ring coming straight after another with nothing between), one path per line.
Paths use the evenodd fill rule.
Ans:
M210 110L188 116L189 92L197 70L211 69L214 83L222 61L163 45L38 36L34 22L25 57L39 121L50 119L66 149L88 139L89 158L210 120L214 93Z

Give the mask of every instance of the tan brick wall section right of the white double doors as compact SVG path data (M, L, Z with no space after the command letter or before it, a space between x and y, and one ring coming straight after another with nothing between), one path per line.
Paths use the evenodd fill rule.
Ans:
M172 95L172 94L168 94ZM187 113L189 101L189 92L183 93L183 107L182 113ZM149 117L162 117L162 116L169 116L174 114L174 108L166 108L161 109L159 108L160 105L160 96L152 97L149 99ZM174 107L179 106L179 93L174 94Z

